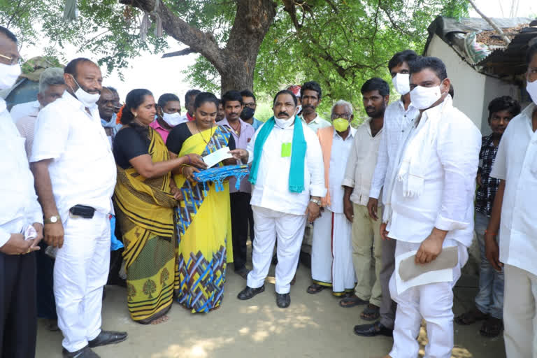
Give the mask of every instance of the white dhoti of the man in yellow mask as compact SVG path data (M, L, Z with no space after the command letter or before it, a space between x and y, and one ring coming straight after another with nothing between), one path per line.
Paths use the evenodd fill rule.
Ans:
M318 285L332 287L334 295L353 292L356 278L352 266L352 224L345 214L327 208L313 225L311 277Z

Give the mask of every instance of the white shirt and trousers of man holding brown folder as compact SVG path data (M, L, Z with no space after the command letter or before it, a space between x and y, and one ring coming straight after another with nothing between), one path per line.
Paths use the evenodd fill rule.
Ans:
M422 162L422 194L405 196L403 181L392 177L393 213L389 217L389 237L397 240L398 257L418 250L434 227L449 231L443 246L459 248L459 264L453 268L450 282L418 285L403 292L398 292L394 285L396 275L399 275L394 272L390 293L398 306L394 346L390 352L392 358L417 357L419 345L416 336L422 318L427 322L429 336L425 357L447 358L453 348L452 287L468 259L466 247L473 236L473 195L481 135L466 115L452 107L450 96L440 105L424 111L420 121L435 118L439 119L438 129L428 144L431 145L430 155ZM425 122L420 124L417 129L413 127L402 151L413 145L418 131L427 128ZM394 173L398 171L399 168L396 168Z

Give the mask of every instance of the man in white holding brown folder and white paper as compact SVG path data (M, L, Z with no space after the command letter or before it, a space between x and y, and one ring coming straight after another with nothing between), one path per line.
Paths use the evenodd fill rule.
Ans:
M441 59L420 57L411 62L410 89L420 117L399 151L384 209L387 236L397 241L396 268L389 282L397 311L394 345L387 357L417 357L416 337L424 319L429 338L424 357L448 358L454 336L453 287L473 238L481 134L453 107ZM439 255L443 258L437 259ZM411 261L401 264L400 271L405 257Z

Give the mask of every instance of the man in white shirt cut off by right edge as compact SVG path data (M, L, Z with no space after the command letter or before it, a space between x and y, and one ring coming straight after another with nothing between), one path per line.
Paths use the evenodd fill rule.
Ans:
M527 52L527 66L527 92L533 103L510 120L501 137L490 173L501 182L485 231L487 259L497 271L504 270L508 358L537 356L537 43Z

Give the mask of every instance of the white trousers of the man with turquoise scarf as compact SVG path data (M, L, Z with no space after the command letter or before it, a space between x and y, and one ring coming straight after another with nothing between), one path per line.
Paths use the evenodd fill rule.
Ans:
M254 212L254 249L252 264L254 268L248 273L248 287L262 287L268 269L271 268L272 253L276 234L278 234L278 264L276 265L276 292L287 294L290 282L299 263L300 247L306 227L306 215L281 213L259 206L252 206Z

